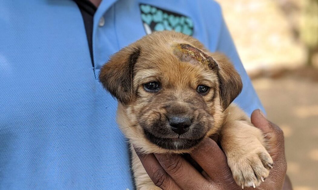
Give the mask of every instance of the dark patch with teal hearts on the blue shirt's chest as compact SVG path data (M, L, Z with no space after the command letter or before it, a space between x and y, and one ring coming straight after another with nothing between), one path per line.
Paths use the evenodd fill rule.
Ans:
M147 34L153 31L175 30L186 35L193 35L193 21L189 17L148 4L139 4L139 7Z

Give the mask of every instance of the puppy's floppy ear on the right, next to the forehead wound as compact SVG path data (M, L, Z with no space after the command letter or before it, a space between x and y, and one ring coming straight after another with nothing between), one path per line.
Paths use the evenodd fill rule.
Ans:
M209 54L213 60L209 67L217 70L219 90L223 109L226 109L242 91L242 80L228 58L221 53Z

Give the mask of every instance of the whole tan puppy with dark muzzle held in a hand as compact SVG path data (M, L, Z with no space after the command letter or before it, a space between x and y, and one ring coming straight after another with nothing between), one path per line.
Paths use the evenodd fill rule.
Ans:
M258 186L268 176L273 160L261 131L231 104L242 89L239 74L194 38L169 31L146 35L114 54L99 78L118 99L117 121L139 151L189 153L220 134L239 186ZM137 189L160 189L132 146L131 152Z

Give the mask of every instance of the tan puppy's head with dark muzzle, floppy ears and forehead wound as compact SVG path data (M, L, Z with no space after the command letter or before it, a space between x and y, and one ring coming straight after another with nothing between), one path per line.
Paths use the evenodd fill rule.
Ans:
M132 141L187 150L216 133L223 111L242 89L239 74L197 40L157 32L114 54L100 81L118 99Z

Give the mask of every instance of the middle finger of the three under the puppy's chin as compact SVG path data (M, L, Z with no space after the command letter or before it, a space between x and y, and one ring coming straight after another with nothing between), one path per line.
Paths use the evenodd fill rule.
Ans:
M162 168L182 189L203 189L210 183L189 162L176 154L155 154ZM201 188L202 187L202 188Z

